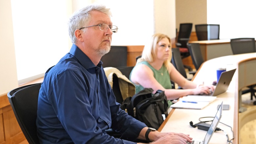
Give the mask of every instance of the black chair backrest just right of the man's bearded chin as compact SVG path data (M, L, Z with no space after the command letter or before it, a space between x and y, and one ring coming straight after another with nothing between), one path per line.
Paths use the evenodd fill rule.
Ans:
M111 46L109 53L102 56L103 67L127 66L127 46Z

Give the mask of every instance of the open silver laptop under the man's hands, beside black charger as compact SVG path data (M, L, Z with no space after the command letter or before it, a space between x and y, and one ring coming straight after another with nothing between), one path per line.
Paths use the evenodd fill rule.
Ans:
M193 140L192 143L187 142L188 144L208 144L218 123L220 122L220 119L222 117L222 109L223 109L223 102L221 103L215 117L213 118L213 121L209 127L209 130L207 131L206 135L204 136L203 141L197 141L197 140Z

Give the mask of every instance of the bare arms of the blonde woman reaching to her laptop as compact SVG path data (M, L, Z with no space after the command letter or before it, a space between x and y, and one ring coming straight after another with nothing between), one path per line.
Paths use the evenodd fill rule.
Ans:
M152 88L154 93L157 90L165 91L167 99L178 99L181 96L209 93L210 90L206 86L200 86L197 88L197 84L185 79L170 63L169 74L173 82L180 85L183 89L165 89L155 78L153 71L145 64L137 65L132 74L131 81L135 84L140 84L146 88Z

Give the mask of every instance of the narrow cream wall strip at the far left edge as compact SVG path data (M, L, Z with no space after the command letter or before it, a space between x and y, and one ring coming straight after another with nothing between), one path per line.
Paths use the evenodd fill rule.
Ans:
M0 0L0 96L18 86L11 1Z

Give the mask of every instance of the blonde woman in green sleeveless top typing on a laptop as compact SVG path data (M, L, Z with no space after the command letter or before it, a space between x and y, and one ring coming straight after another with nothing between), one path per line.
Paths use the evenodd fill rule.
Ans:
M171 63L171 40L167 35L154 34L150 45L143 49L141 58L131 72L130 80L136 86L136 93L143 88L164 90L167 99L178 99L181 96L210 93L213 85L197 85L193 81L185 79ZM172 89L173 81L182 89Z

